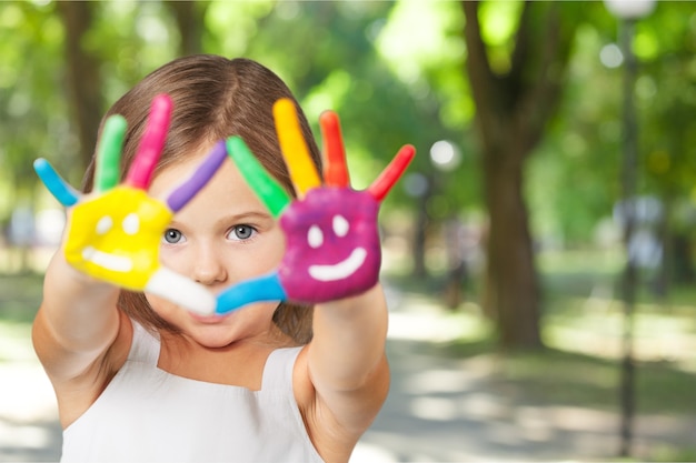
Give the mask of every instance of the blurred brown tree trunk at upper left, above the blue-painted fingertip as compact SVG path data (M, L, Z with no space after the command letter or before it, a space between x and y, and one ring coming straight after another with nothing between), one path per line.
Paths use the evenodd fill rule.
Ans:
M83 171L95 152L102 114L101 61L82 47L82 39L92 26L95 3L59 1L56 7L66 29L68 90L78 123L80 170Z

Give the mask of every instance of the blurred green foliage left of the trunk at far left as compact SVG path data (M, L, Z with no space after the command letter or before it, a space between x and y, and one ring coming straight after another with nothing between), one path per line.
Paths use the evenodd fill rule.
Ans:
M6 214L16 201L31 198L31 159L74 148L74 140L61 137L69 124L56 72L63 33L52 11L28 2L0 4L0 211Z

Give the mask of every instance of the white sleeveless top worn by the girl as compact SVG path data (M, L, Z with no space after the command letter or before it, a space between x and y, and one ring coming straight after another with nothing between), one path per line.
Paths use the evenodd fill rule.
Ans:
M128 360L63 431L62 462L321 462L292 393L301 348L266 361L260 391L157 368L160 341L133 322Z

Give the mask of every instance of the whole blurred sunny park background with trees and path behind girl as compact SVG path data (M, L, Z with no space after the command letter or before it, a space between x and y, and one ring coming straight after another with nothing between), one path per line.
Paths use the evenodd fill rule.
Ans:
M54 460L30 345L102 113L183 54L340 114L384 205L392 393L365 461L696 461L696 3L0 3L0 460ZM318 133L318 131L316 132ZM381 460L380 460L381 459Z

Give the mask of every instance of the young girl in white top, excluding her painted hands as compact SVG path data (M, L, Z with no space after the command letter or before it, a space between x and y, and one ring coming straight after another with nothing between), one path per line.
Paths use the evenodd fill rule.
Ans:
M163 66L111 108L107 115L128 122L121 178L160 93L173 113L150 195L163 198L229 135L292 193L271 109L290 91L256 62L213 56ZM93 179L92 162L84 191ZM165 266L218 294L275 269L285 248L227 161L173 215L159 252ZM345 462L387 396L386 330L379 284L314 308L257 302L201 316L88 276L61 250L46 273L33 344L58 399L63 461Z

